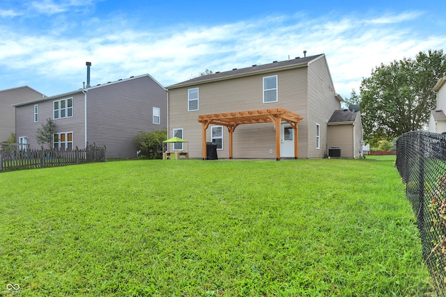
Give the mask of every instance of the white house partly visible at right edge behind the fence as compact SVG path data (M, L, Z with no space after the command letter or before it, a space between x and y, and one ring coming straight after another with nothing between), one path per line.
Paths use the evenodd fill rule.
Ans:
M437 93L436 109L431 111L429 118L429 132L443 133L446 131L446 77L438 79L438 82L433 87Z

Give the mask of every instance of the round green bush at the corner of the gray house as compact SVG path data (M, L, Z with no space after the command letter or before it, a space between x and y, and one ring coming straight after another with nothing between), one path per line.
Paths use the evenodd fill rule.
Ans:
M162 142L166 139L166 129L153 130L149 134L146 131L139 131L137 136L134 136L139 156L143 159L162 159Z

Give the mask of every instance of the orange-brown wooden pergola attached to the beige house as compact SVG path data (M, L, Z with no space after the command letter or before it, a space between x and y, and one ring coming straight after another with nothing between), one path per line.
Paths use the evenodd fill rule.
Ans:
M198 121L201 122L202 131L202 156L206 160L206 129L210 124L226 126L229 131L229 159L232 154L232 134L238 125L259 124L263 122L272 122L276 129L276 160L280 160L280 125L282 122L288 122L294 131L294 158L298 159L298 123L302 117L287 109L259 109L254 111L234 111L229 113L213 113L208 115L199 115Z

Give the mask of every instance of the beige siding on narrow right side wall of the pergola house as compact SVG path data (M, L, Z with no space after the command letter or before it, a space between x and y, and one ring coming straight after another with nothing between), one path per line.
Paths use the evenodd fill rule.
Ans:
M327 122L333 111L341 108L336 99L334 86L325 56L309 64L308 73L308 118L307 158L323 158L327 153ZM321 127L321 146L316 149L316 124Z

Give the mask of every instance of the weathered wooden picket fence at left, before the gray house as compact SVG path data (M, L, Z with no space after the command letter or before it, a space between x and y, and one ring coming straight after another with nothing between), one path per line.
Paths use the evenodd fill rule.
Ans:
M9 144L8 144L9 145ZM11 148L15 147L15 150ZM19 149L19 150L17 150ZM17 144L6 146L0 144L0 171L31 168L67 166L75 164L105 162L106 149L88 145L84 150L31 150Z

